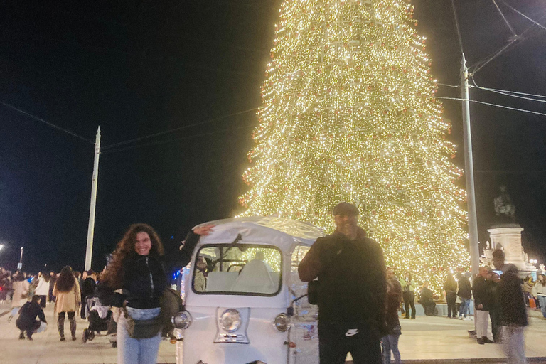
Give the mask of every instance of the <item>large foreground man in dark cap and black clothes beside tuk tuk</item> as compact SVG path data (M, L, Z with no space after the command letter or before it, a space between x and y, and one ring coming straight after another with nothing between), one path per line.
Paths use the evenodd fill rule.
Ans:
M386 277L383 252L357 225L358 208L333 208L336 232L320 237L301 261L299 278L319 278L319 357L321 364L382 363Z

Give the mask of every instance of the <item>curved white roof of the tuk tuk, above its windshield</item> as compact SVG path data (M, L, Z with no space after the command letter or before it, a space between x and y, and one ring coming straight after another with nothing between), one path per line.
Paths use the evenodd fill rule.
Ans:
M270 216L229 218L200 225L209 224L216 226L209 235L201 237L200 244L232 242L240 234L242 242L274 245L286 251L294 247L295 242L310 246L324 236L322 229L309 223Z

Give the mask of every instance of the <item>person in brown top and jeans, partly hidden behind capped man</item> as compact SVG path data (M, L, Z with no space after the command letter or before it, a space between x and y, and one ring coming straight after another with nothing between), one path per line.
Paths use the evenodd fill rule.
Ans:
M390 353L395 357L395 364L400 364L400 350L398 340L402 334L402 327L398 319L398 308L402 301L402 286L395 278L395 271L387 269L387 296L385 299L387 322L387 335L381 338L383 347L383 364L390 364Z

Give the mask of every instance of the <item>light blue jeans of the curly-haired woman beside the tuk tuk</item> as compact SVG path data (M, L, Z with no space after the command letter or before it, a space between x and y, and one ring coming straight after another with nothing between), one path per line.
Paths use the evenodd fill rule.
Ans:
M156 309L131 309L127 311L134 319L153 319L159 315ZM117 364L156 364L161 332L154 338L132 338L127 333L127 319L122 312L117 320Z

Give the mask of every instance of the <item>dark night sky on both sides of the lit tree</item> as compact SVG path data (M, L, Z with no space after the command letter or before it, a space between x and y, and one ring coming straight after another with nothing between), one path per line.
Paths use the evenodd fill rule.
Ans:
M544 1L505 1L546 23ZM0 0L0 102L88 139L0 104L0 241L6 245L0 266L14 269L24 246L26 270L83 268L99 125L105 150L94 269L104 266L131 223L154 226L169 251L193 225L240 212L237 197L247 188L240 175L257 125L255 111L245 111L260 105L281 3ZM432 75L459 84L451 1L412 3L417 31L428 37ZM497 3L516 33L532 25ZM493 1L457 0L456 6L469 65L512 36ZM537 26L475 75L481 86L539 95L546 95L545 78L546 30ZM460 96L456 88L439 90L439 96ZM544 102L484 90L471 90L471 98L546 112ZM461 104L444 106L453 124L449 138L459 146L455 162L464 167ZM471 118L480 241L488 239L493 198L506 185L525 228L523 245L544 261L546 117L471 104Z

